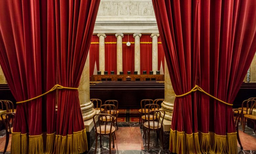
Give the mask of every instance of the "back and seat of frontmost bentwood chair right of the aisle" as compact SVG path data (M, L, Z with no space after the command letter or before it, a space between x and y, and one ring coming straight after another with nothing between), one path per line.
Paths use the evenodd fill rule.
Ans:
M157 122L157 123L153 123L153 129L154 130L159 129L159 126L163 125L163 120L160 123L160 117L161 117L161 115L163 115L163 118L164 118L165 111L163 111L163 110L151 110L151 111L148 112L148 115L147 115L148 119L150 118L150 115L155 116L155 120L154 121ZM148 121L148 126L149 126L150 129L152 129L150 127L150 121Z

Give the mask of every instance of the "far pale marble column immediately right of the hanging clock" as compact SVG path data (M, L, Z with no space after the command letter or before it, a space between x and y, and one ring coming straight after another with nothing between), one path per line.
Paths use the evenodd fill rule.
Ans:
M140 33L134 33L134 70L140 74Z

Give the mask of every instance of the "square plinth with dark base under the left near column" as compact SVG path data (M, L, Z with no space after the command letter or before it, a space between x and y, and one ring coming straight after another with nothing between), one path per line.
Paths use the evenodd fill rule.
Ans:
M96 114L99 113L99 110L95 110ZM96 122L98 120L98 118L96 117ZM84 121L84 127L86 130L86 136L87 136L87 143L88 143L88 149L90 150L95 139L95 126L94 126L94 122L93 122L93 118Z

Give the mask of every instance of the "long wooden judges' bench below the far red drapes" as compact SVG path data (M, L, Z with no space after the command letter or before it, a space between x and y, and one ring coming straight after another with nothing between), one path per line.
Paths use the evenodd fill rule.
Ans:
M134 74L126 74L126 75L92 75L91 80L92 81L101 81L102 79L111 79L112 81L117 81L117 79L122 79L122 81L128 81L126 80L127 77L131 77L130 81L136 81L136 79L140 79L140 81L146 81L147 80L154 80L154 81L164 81L164 75L134 75Z

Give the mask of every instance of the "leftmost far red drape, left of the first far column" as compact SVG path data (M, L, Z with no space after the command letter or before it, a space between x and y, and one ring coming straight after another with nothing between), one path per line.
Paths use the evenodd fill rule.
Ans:
M99 70L99 37L97 35L93 35L92 37L89 52L90 76L92 76L95 69L95 62L97 70Z

